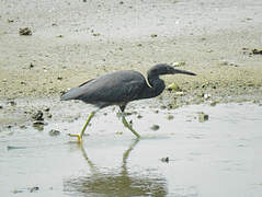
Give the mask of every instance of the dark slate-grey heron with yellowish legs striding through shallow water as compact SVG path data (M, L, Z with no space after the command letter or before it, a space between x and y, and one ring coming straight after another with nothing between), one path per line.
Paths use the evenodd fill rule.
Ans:
M95 106L98 109L91 112L88 116L80 134L69 134L70 137L77 137L78 141L82 141L84 130L93 118L94 114L104 107L118 105L122 114L122 123L137 138L140 135L127 123L125 118L126 105L136 100L151 99L160 95L166 85L160 76L164 74L189 74L196 76L193 72L179 70L167 63L158 63L147 71L146 78L138 71L121 70L101 76L96 79L91 79L77 88L69 90L61 95L61 101L80 100L87 104Z

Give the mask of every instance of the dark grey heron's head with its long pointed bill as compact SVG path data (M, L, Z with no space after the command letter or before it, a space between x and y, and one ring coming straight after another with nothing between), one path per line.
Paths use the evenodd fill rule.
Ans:
M179 70L174 69L172 66L167 65L167 63L159 63L153 66L148 70L148 76L163 76L163 74L175 74L175 73L182 73L182 74L189 74L189 76L196 76L193 72L185 71L185 70Z

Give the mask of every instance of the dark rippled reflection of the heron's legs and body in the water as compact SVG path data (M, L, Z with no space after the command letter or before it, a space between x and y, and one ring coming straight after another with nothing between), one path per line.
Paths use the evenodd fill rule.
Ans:
M127 160L129 153L138 143L138 139L133 141L130 147L123 154L123 163L121 171L116 172L100 172L92 161L88 158L83 149L83 144L79 147L87 160L91 173L69 178L64 182L65 193L69 195L79 196L166 196L167 181L159 174L148 173L140 174L139 172L129 172L127 167Z

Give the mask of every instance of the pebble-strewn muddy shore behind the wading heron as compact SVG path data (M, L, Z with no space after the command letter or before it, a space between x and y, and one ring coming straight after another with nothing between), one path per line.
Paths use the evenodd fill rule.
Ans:
M30 4L30 5L29 5ZM0 97L57 97L114 70L146 74L159 62L185 62L197 77L164 77L160 97L175 106L261 99L261 2L2 1ZM235 12L238 11L238 12ZM32 35L20 35L29 27Z

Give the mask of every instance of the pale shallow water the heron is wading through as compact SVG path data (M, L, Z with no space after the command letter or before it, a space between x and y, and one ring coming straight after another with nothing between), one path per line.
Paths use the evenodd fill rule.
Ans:
M79 108L86 111L82 106L54 111L42 131L13 127L0 132L1 196L262 195L259 104L168 111L138 102L127 111L135 106L143 118L133 114L127 119L143 136L140 140L135 140L115 116L116 111L109 107L96 114L79 146L66 134L81 129L87 112L73 120L66 115L76 117ZM200 123L198 112L208 114L209 119ZM169 120L169 114L174 118ZM156 131L150 129L153 124L160 126ZM61 135L50 137L53 128ZM167 157L169 162L161 161Z

